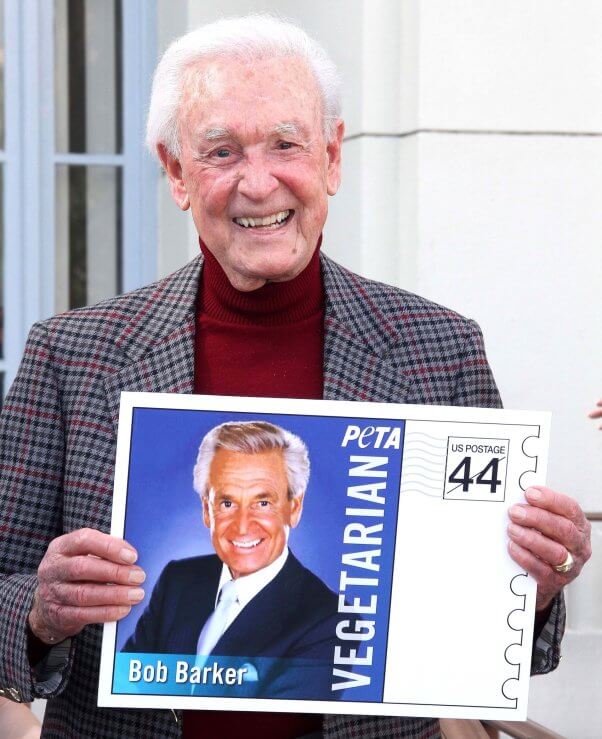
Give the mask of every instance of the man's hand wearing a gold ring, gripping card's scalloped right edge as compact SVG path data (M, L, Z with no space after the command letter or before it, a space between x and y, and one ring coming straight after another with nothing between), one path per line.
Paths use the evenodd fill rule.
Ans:
M509 510L512 559L537 581L536 610L545 610L554 596L581 572L590 558L591 526L577 501L550 488L528 488L527 504ZM570 572L557 572L554 567L566 561L571 553L575 564Z

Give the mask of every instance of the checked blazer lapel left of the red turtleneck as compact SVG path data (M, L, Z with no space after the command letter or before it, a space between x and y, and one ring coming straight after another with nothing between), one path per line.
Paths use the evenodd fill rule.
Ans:
M202 255L157 283L116 341L125 367L105 378L115 428L122 391L191 393L194 384L195 302Z

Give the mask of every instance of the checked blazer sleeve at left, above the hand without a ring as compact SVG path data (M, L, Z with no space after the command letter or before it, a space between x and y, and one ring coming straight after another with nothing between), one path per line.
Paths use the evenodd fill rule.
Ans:
M0 414L0 690L31 701L61 691L71 640L49 650L40 669L27 657L27 617L37 567L62 533L64 428L48 327L35 324Z

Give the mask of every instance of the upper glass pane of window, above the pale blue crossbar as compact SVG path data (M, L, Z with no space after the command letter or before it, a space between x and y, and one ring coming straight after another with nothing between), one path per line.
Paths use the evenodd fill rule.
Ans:
M54 0L56 149L121 151L121 0Z

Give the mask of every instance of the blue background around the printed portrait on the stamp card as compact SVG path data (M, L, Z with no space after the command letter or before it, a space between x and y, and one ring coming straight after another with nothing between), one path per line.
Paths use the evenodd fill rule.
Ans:
M152 588L163 567L173 559L213 554L209 530L201 517L201 504L192 487L192 470L203 436L225 421L261 419L278 424L300 436L307 444L311 462L309 486L305 495L299 526L291 531L289 546L299 560L318 575L334 592L339 592L342 569L349 576L378 577L377 588L347 588L347 602L354 596L362 603L378 593L376 634L369 642L373 647L373 663L356 671L371 676L367 687L346 690L345 700L382 698L384 659L386 654L391 573L397 523L402 449L359 449L351 442L341 447L348 424L362 428L390 426L401 429L403 421L379 419L296 416L289 414L234 413L218 411L136 408L132 420L130 469L127 491L125 538L138 550L140 564L146 571L145 599L132 608L130 615L118 624L117 649L121 649L148 604ZM372 442L376 437L372 437ZM383 438L384 443L387 436ZM366 484L372 477L349 477L350 455L387 456L389 463L385 516L382 518L349 517L347 507L374 508L372 503L347 496L349 485ZM380 468L384 469L384 467ZM380 506L376 506L380 507ZM383 546L378 573L341 564L344 552L378 548L350 546L343 543L345 526L352 522L365 525L384 523ZM341 615L341 620L346 616ZM351 669L343 667L342 669Z

